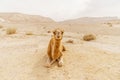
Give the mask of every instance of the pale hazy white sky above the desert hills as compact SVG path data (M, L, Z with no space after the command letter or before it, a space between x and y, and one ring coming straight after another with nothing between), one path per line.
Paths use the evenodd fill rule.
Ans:
M120 17L120 0L0 0L0 12L20 12L66 20L88 16Z

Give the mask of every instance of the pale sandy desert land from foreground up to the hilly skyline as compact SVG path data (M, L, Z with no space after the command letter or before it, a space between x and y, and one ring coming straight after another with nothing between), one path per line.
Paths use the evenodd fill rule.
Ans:
M50 31L57 27L65 31L64 65L46 68ZM7 33L11 29L16 32ZM96 39L84 41L85 34ZM55 22L38 15L0 13L0 80L120 80L120 20Z

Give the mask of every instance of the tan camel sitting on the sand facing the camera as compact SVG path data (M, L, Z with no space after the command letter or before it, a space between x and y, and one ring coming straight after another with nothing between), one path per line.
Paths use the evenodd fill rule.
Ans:
M47 50L48 60L46 67L50 67L55 61L58 61L58 66L61 67L63 65L62 52L66 50L61 42L63 33L64 31L61 29L53 31L54 36L51 38Z

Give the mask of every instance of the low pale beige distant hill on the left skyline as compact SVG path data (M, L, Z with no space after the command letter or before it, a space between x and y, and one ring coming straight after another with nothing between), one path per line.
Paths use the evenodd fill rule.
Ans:
M39 15L27 15L21 13L0 13L0 22L11 23L53 23L54 20Z

